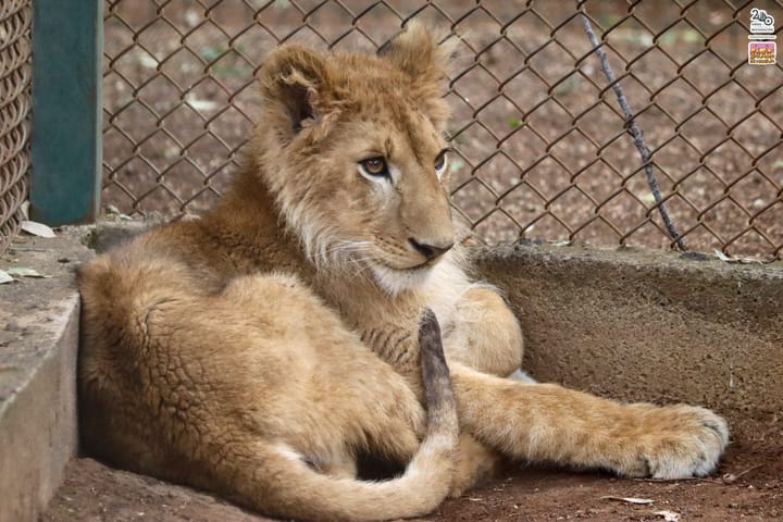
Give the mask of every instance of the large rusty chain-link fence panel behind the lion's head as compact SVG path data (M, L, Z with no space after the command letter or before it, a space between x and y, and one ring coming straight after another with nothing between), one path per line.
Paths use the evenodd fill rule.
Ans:
M271 49L372 51L415 17L459 40L451 188L476 238L672 246L584 12L688 248L781 259L783 69L748 64L751 8L783 22L780 1L108 0L103 200L202 212Z

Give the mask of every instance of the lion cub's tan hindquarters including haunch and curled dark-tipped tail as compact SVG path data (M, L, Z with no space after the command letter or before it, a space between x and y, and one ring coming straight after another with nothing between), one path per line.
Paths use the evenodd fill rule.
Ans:
M297 278L245 276L210 294L164 263L134 266L85 275L122 290L83 353L83 413L107 458L300 520L420 515L446 496L458 426L434 319L422 330L425 413ZM100 315L97 287L83 289L87 318ZM396 480L357 481L357 448L410 463Z

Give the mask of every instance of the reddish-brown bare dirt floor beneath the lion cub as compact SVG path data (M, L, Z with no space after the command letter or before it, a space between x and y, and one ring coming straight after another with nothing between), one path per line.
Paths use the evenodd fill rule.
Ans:
M447 500L422 522L783 520L783 447L734 444L712 477L652 482L509 467L505 476ZM610 498L611 497L611 498ZM621 498L651 500L636 505ZM658 513L656 513L658 512ZM663 512L669 512L666 519ZM212 496L75 459L39 522L261 522Z

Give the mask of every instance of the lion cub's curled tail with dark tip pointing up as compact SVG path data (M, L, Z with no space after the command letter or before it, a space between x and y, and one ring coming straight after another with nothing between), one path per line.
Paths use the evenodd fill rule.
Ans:
M253 459L248 459L247 467L233 459L235 470L241 468L243 474L247 471L238 500L250 507L263 506L271 515L311 521L375 521L433 511L451 485L458 421L440 332L428 310L420 328L420 341L427 428L401 476L383 482L328 476L290 450L264 444L258 449L269 457L261 468ZM259 495L264 498L254 498Z

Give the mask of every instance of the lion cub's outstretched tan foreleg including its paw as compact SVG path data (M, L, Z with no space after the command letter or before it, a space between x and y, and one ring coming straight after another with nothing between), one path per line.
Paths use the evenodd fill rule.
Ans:
M704 408L621 405L451 370L462 428L511 458L675 478L712 471L729 442L725 421Z

